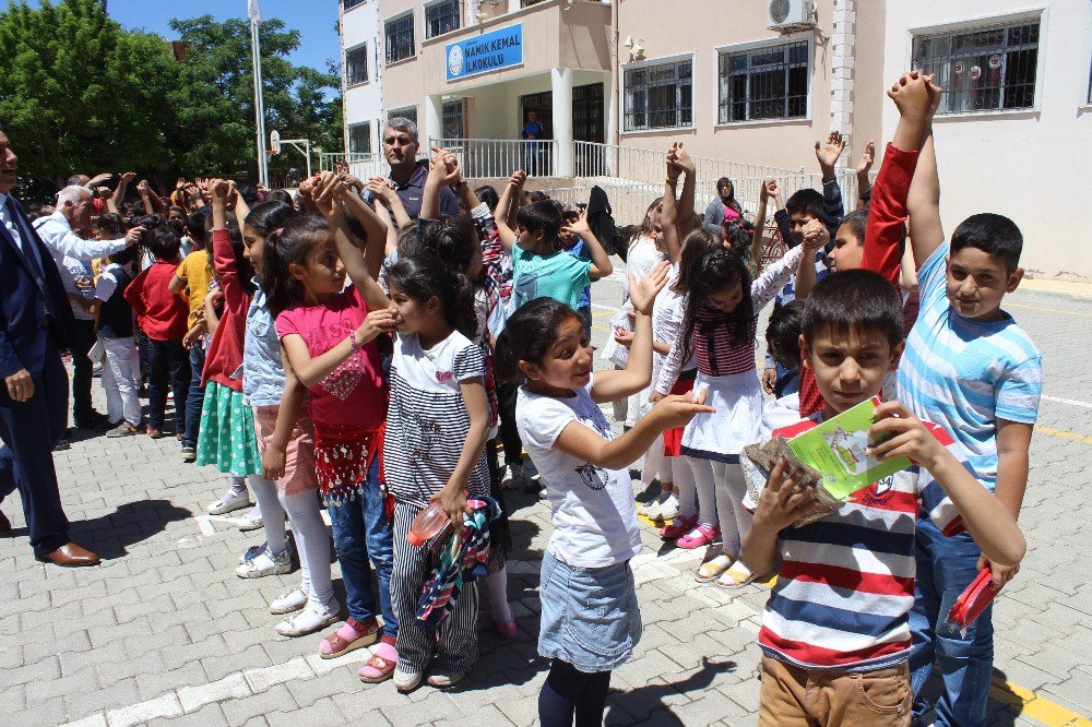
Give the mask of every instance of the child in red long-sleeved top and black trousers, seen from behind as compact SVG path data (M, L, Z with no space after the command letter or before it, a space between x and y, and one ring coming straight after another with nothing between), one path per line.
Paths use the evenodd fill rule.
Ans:
M186 430L186 396L190 390L190 361L182 348L189 307L167 287L178 265L179 241L167 227L150 230L146 238L155 262L129 284L124 297L150 343L147 436L163 437L169 377L175 395L175 430L180 437Z

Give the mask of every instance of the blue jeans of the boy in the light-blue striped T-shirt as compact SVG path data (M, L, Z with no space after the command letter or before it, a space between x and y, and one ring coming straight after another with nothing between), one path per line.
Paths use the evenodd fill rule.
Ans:
M966 533L946 537L929 520L917 521L917 587L910 630L914 718L928 711L921 698L934 659L943 680L936 724L975 727L986 724L986 701L994 670L993 606L968 629L966 636L948 623L948 611L977 577L982 551Z

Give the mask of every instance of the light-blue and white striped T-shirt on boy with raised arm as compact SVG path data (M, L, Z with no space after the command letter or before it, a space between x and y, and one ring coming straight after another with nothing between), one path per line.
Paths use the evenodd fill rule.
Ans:
M922 310L899 366L899 400L956 438L978 480L997 481L997 420L1035 424L1043 393L1038 349L1011 315L981 322L948 301L945 242L917 279Z

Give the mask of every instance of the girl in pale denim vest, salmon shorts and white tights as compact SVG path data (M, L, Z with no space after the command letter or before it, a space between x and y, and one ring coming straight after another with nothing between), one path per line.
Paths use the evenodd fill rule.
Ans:
M262 475L276 481L276 494L292 523L299 552L299 587L270 604L274 615L293 613L276 625L277 633L301 636L337 620L341 605L330 581L330 539L314 497L314 426L301 404L306 390L286 371L264 287L270 285L262 264L265 238L283 227L295 210L283 202L262 202L246 217L242 241L247 260L258 271L261 286L247 310L242 354L242 393L253 407Z

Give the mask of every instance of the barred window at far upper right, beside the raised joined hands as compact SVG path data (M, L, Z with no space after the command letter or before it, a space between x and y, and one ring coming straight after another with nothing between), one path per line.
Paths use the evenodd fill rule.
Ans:
M917 36L911 65L937 74L945 90L937 114L1031 108L1038 21Z

